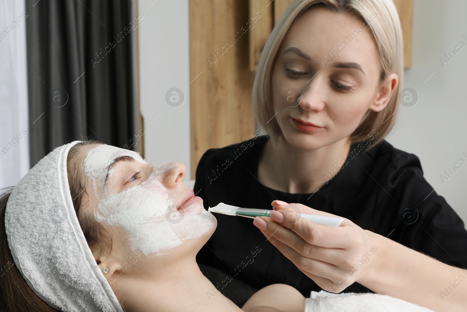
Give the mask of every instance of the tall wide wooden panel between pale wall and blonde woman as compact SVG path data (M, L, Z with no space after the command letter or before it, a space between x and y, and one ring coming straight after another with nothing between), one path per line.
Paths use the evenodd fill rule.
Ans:
M250 18L248 0L190 0L192 179L207 149L255 133L246 24Z

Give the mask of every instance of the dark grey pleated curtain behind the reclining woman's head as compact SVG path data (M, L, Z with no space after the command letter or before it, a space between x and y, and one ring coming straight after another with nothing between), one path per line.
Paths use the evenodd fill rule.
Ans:
M131 0L26 0L26 13L31 167L84 137L128 147Z

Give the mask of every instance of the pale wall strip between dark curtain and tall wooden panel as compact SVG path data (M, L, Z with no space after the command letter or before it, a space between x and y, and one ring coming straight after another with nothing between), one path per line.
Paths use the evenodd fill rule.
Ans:
M144 156L150 162L184 163L188 181L191 175L188 0L138 0L137 10L144 14L138 24ZM184 103L179 107L172 107L165 100L172 87L184 93Z

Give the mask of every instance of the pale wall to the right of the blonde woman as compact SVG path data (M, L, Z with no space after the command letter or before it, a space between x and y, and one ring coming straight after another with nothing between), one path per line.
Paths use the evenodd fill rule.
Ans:
M467 161L467 1L431 2L413 1L413 63L404 87L415 89L419 99L401 107L388 141L420 158L425 179L467 223L467 164L444 184L440 178L460 158ZM466 47L443 67L439 59L460 41Z

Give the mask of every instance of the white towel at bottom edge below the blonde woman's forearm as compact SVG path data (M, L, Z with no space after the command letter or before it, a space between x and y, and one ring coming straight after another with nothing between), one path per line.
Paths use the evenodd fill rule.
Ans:
M321 290L311 291L305 299L305 312L429 312L413 303L374 293L334 294Z

